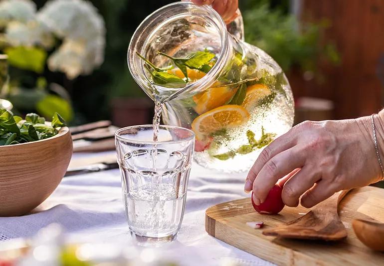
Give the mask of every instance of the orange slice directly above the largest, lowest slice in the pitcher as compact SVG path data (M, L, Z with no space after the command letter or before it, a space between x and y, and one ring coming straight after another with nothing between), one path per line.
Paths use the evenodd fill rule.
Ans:
M208 88L193 96L193 101L196 103L194 110L198 114L206 113L225 104L235 93L236 89L231 87Z

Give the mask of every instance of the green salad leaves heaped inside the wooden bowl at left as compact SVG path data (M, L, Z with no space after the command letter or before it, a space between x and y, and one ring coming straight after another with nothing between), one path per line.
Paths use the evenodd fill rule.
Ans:
M0 109L0 146L46 139L56 135L64 126L65 120L58 113L53 115L51 124L46 124L44 117L34 113L27 114L23 120Z

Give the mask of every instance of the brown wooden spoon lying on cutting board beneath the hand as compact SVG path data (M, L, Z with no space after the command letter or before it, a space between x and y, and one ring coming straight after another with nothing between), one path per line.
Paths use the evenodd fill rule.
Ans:
M269 228L263 235L292 239L336 241L347 237L347 230L338 215L339 202L349 190L335 193L319 203L306 215L285 225Z

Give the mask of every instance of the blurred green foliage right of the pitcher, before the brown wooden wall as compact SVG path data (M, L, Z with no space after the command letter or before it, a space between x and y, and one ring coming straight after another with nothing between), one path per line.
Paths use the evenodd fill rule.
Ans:
M303 71L316 71L320 56L337 64L339 54L332 42L323 44L327 20L299 23L291 14L289 1L240 1L245 26L245 40L266 51L288 71L294 66Z

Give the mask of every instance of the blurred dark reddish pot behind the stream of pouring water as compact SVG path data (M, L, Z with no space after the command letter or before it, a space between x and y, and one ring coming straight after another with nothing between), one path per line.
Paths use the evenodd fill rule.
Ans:
M114 98L112 123L118 127L152 124L154 106L149 98Z

